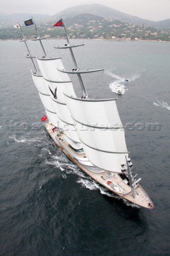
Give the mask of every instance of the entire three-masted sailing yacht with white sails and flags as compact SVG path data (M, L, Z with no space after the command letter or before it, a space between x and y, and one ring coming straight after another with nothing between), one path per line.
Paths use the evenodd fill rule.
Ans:
M28 20L35 25L33 19ZM27 21L27 22L28 22ZM18 24L19 25L19 24ZM16 26L16 25L15 25ZM29 26L29 25L26 25ZM64 27L61 19L54 27ZM19 28L21 29L20 25ZM21 42L27 46L35 71L31 71L33 82L45 107L47 122L45 127L56 145L71 161L86 172L100 185L122 198L148 209L154 204L146 191L140 186L137 174L132 175L132 162L126 147L124 127L116 107L116 99L90 99L81 74L102 71L104 69L80 70L74 56L73 48L84 44L70 43L67 31L67 44L55 46L57 49L69 49L74 67L64 69L62 58L48 57L42 39L35 25L37 37L44 56L36 57L40 73L37 71L27 40L23 32ZM68 74L79 78L82 95L77 98Z

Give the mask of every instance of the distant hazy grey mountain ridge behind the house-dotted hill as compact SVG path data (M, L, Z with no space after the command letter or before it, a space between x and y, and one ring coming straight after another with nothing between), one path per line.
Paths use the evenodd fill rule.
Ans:
M47 14L31 14L31 13L14 13L14 14L4 14L0 13L0 27L2 25L11 26L14 23L22 22L24 20L30 19L33 15L33 18L38 22L48 22L50 20L55 20L59 17L62 18L70 18L75 15L88 13L91 15L96 15L103 18L112 18L118 19L121 21L127 21L132 23L142 23L145 25L158 27L158 28L166 28L170 27L170 19L162 20L162 21L150 21L141 19L139 17L129 15L111 7L101 5L101 4L84 4L84 5L77 5L73 7L69 7L62 12L58 12L55 15L47 15Z

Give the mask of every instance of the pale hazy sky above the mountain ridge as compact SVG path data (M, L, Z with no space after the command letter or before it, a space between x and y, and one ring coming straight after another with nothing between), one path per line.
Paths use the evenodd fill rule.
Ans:
M0 12L54 15L70 6L93 3L103 4L143 19L170 19L170 0L1 0Z

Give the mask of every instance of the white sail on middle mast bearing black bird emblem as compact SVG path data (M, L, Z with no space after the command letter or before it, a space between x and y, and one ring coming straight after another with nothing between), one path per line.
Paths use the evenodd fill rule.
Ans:
M40 71L44 77L45 84L53 101L54 111L60 119L60 127L64 130L67 137L73 141L80 142L77 132L74 129L74 121L67 109L64 92L69 91L75 97L72 82L67 74L57 70L57 67L63 67L61 58L37 58ZM64 68L64 67L63 67ZM41 98L42 95L41 95Z

